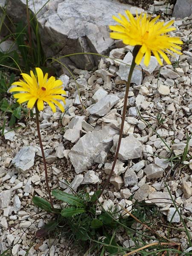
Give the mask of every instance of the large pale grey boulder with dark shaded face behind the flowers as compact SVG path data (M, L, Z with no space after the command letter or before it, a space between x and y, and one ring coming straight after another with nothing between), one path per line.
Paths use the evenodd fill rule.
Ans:
M37 14L47 57L75 52L107 54L114 44L108 28L108 25L116 24L112 15L124 14L131 8L117 0L50 0L46 3L47 0L29 0L28 5ZM6 11L14 21L27 20L26 0L8 1ZM98 56L79 55L70 60L76 67L91 69Z

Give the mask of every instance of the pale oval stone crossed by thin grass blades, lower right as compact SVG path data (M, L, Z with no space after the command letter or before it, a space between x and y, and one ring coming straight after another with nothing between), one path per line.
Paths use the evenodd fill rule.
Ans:
M172 198L175 199L175 196L172 195ZM148 199L158 207L169 207L172 204L169 192L153 192L149 194Z

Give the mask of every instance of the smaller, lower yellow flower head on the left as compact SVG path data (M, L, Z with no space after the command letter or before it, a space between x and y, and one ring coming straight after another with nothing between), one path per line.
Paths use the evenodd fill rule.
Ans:
M62 89L63 82L61 80L55 80L54 76L47 79L48 73L44 76L43 71L39 67L36 67L36 73L37 76L35 76L32 71L30 71L31 76L26 73L21 73L24 81L20 80L14 82L12 85L18 85L18 87L11 88L9 92L21 92L15 93L14 98L16 98L17 102L20 104L28 101L28 108L33 108L37 102L38 110L41 111L44 109L44 102L47 102L53 112L56 111L55 105L64 112L63 105L58 102L58 99L60 99L65 104L65 98L59 95L66 94Z

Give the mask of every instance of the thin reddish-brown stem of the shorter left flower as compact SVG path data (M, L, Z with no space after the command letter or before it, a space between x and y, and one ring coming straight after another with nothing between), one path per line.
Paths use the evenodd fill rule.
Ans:
M42 144L42 140L41 140L41 134L40 134L39 111L38 111L38 108L37 108L37 103L35 103L35 114L36 114L36 124L37 124L39 145L40 145L40 148L41 148L41 153L42 153L42 157L43 157L43 161L44 161L45 181L46 181L46 186L47 186L47 192L49 194L49 200L50 200L51 207L52 207L52 209L54 209L53 203L52 203L52 198L51 198L51 192L50 192L50 189L49 189L49 181L48 181L48 175L47 175L47 164L46 164L46 160L45 160L44 148L43 148L43 144Z

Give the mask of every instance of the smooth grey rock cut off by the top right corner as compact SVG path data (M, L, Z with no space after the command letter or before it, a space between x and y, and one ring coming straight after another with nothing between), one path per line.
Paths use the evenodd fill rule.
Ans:
M192 14L192 2L191 0L177 0L172 17L184 18L189 17Z

